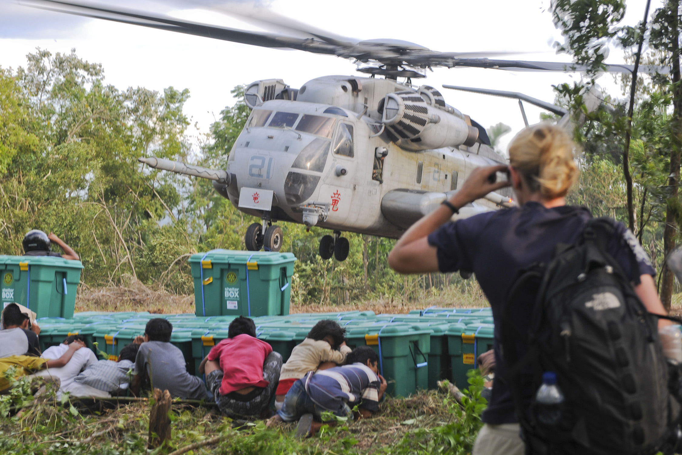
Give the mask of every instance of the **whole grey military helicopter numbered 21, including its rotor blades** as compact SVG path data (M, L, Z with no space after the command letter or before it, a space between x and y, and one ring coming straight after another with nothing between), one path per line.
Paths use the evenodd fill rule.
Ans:
M254 46L337 55L355 61L357 71L369 74L322 76L299 89L280 79L251 83L246 87L245 102L252 112L224 170L155 157L139 159L152 168L211 179L216 192L235 207L261 218L262 222L254 222L246 230L246 248L252 251L279 251L283 235L276 222L295 222L308 229L321 226L331 230L333 235L321 238L319 253L323 259L334 256L344 261L349 241L342 237L343 232L398 238L457 191L473 169L505 163L479 123L447 104L438 89L413 85L413 80L425 77L426 69L584 70L567 63L441 53L400 40L355 42L288 19L282 25L284 20L272 14L263 18L233 9L228 14L295 32L292 34L303 32L307 38L218 27L91 3L44 0L30 4ZM632 67L608 65L606 70L632 72ZM640 66L640 71L665 69ZM448 88L519 98L520 103L531 102L562 115L564 123L568 121L567 112L559 106L520 93ZM598 107L600 100L593 98ZM462 207L453 220L511 205L511 190L503 188Z

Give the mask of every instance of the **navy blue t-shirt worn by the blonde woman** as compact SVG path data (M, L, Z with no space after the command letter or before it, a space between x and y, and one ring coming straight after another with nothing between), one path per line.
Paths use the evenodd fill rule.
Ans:
M449 222L428 236L428 243L438 248L438 265L443 272L473 271L481 285L495 322L495 379L492 397L483 421L488 424L516 422L509 389L498 379L505 374L501 357L500 329L503 305L519 271L534 263L549 263L557 244L575 244L585 224L592 218L585 207L565 205L547 209L537 202L523 207L490 211L457 222ZM649 256L621 222L614 221L614 233L607 252L621 265L634 282L644 274L655 275ZM639 270L632 271L632 255ZM528 320L533 301L516 302L514 314ZM521 327L517 327L521 328ZM523 332L522 332L523 333ZM527 391L532 394L533 391Z

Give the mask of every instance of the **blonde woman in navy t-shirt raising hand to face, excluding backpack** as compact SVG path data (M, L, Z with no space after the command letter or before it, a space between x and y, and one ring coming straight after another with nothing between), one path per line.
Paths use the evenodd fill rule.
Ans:
M578 166L574 144L561 128L539 124L519 132L509 145L509 164L509 181L494 184L488 177L506 171L507 166L477 168L449 201L406 231L389 254L389 265L403 274L473 271L492 306L496 375L473 455L524 453L511 394L498 380L505 376L499 349L502 307L520 270L550 262L555 246L576 243L592 218L587 208L566 205L565 196L578 180ZM518 207L449 221L464 205L504 186L514 188ZM649 257L622 223L614 222L606 249L632 282L639 283L634 289L649 312L666 314ZM630 267L633 256L638 270ZM528 321L533 302L517 303L518 319ZM659 321L659 325L666 324Z

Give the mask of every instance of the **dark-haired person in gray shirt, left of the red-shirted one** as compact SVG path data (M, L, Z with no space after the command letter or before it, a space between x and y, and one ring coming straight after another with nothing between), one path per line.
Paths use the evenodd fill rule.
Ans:
M135 358L135 371L130 391L140 394L140 388L168 390L173 398L201 400L208 398L206 387L198 377L190 375L182 351L170 344L173 325L166 319L149 319L145 336L134 342L140 344Z

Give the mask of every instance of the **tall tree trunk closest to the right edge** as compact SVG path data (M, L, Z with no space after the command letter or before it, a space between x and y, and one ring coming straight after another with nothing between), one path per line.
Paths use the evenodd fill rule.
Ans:
M679 14L679 0L672 0L670 10L674 16ZM675 214L677 209L678 184L680 179L680 149L682 144L682 87L680 86L680 49L679 49L679 27L677 20L673 20L670 28L670 44L672 48L672 121L670 122L670 132L672 133L672 147L670 147L670 177L668 177L668 188L670 194L666 202L666 226L663 231L663 250L664 258L675 248L675 236L677 235L677 220ZM664 259L665 261L665 259ZM672 270L666 267L665 262L661 267L663 282L661 284L661 300L666 310L670 310L672 302L672 287L674 276Z

